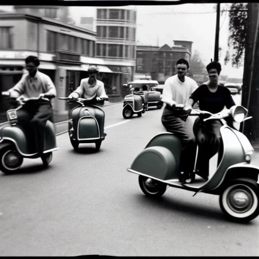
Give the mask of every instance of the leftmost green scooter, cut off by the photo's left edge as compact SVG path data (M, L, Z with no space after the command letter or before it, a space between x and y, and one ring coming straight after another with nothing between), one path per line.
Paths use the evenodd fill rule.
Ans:
M2 96L9 98L9 95L9 92L2 92ZM39 103L42 100L44 102L46 100L49 101L49 99L42 97L28 98L23 100L23 104ZM17 171L22 165L23 158L40 157L43 164L47 166L52 160L52 152L58 150L55 127L50 120L47 121L45 127L45 148L43 154L39 155L35 152L34 145L28 145L25 130L19 125L16 112L23 104L7 111L9 123L0 128L0 170L5 174L12 174Z

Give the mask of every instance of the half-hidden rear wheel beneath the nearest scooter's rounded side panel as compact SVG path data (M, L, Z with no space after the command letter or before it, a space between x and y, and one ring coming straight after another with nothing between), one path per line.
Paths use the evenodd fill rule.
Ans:
M166 184L141 175L139 176L139 185L143 193L151 198L161 197L167 188Z

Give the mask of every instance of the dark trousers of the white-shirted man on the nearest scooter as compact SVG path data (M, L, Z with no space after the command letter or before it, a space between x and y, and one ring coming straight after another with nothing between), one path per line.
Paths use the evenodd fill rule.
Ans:
M182 118L174 116L164 108L161 121L167 132L175 134L182 140L183 149L181 152L180 170L188 173L194 169L196 142L186 128L186 118L187 116Z

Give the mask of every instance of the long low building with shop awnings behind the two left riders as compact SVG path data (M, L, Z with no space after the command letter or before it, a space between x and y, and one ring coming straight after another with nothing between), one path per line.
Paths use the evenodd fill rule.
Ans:
M75 90L80 79L88 76L91 64L99 67L98 77L104 81L108 95L112 93L110 88L120 89L124 82L123 69L116 68L120 60L108 62L96 58L96 32L75 26L67 8L58 8L16 6L15 13L0 14L0 92L10 89L21 78L25 72L24 59L29 55L39 58L38 69L51 77L58 97L68 96ZM0 112L6 106L1 99ZM55 99L54 111L67 108L64 101Z

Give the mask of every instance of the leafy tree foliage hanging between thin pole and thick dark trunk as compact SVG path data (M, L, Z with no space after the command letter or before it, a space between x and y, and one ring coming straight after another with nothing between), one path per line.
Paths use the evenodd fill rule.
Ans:
M226 11L226 10L225 10ZM232 4L229 7L228 51L224 59L225 65L231 61L233 67L240 67L244 61L246 30L247 30L247 4Z

